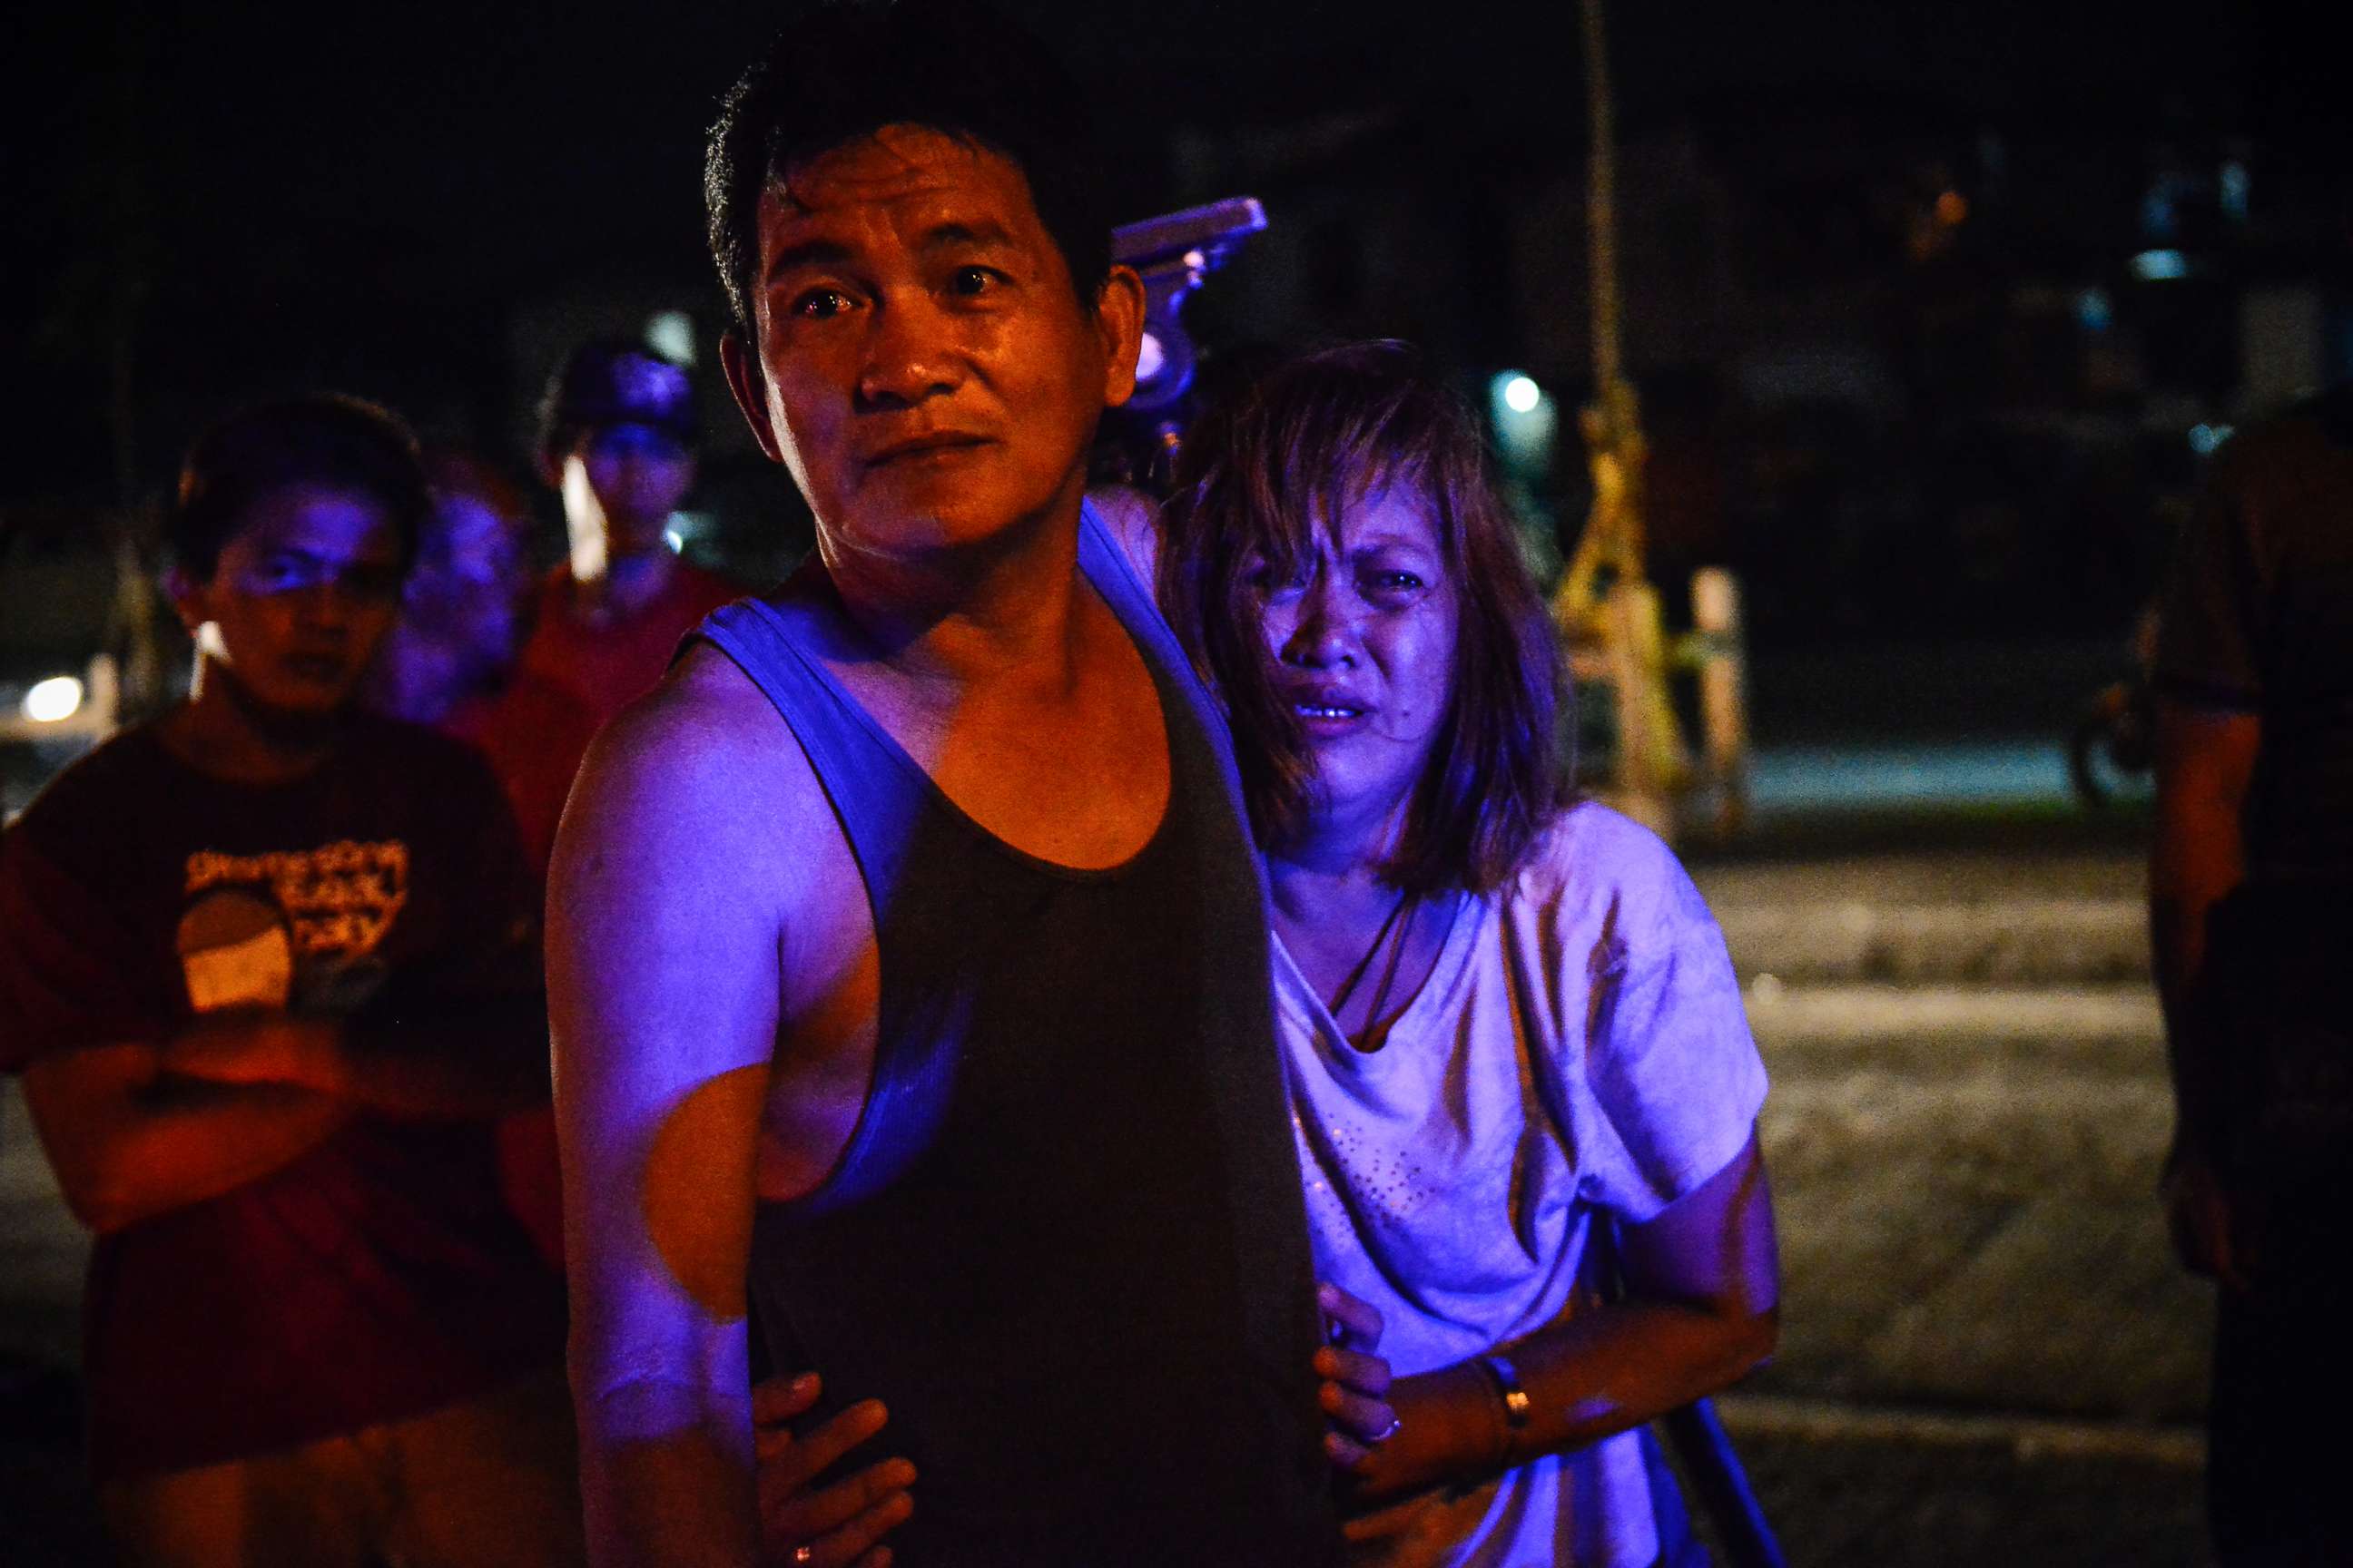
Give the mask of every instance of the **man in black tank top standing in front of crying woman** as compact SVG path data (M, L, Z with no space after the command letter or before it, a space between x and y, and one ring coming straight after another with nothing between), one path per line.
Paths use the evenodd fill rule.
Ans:
M859 1528L911 1568L1337 1554L1257 863L1082 512L1141 334L1089 150L944 0L805 14L713 129L722 360L819 552L605 731L558 839L600 1563L753 1561L748 1307L826 1434L887 1403Z

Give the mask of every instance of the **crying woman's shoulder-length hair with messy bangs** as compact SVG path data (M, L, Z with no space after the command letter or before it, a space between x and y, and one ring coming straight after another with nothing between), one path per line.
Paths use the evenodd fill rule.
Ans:
M1162 510L1160 602L1233 719L1252 832L1278 846L1313 813L1315 769L1252 578L1297 571L1351 501L1398 487L1431 508L1459 630L1447 717L1384 875L1409 893L1489 891L1567 802L1569 684L1478 425L1414 350L1308 353L1202 416Z

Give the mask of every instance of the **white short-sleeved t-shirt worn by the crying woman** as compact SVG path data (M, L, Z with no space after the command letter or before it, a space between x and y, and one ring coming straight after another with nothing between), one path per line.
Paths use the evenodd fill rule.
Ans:
M1355 1051L1275 940L1275 1030L1322 1279L1388 1321L1398 1375L1551 1324L1588 1239L1722 1171L1765 1103L1739 980L1649 830L1581 804L1464 900L1421 994ZM1607 1232L1602 1232L1607 1234ZM1635 1434L1351 1526L1353 1563L1647 1568Z

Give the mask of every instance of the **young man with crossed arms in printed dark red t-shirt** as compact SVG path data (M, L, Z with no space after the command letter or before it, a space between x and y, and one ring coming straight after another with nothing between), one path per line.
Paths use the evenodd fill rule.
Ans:
M355 708L424 508L367 404L209 433L169 524L193 693L0 844L134 1563L579 1556L562 1291L492 1164L546 1095L529 879L473 752Z

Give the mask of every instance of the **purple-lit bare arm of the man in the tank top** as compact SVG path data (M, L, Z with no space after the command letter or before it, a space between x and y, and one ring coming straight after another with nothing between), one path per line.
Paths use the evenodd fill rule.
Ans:
M744 1272L781 903L755 780L781 733L732 668L689 658L588 752L555 844L572 1389L602 1568L741 1568L758 1544Z

